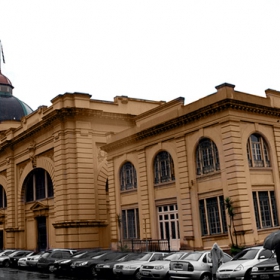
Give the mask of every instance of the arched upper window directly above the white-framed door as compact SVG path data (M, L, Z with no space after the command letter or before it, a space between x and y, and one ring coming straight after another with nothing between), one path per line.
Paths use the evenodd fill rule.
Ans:
M159 152L154 161L154 183L160 184L174 180L174 162L171 155L166 151Z

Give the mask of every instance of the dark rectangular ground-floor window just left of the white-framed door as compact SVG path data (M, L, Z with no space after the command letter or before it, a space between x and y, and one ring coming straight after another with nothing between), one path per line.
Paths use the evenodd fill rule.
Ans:
M122 210L123 239L139 238L139 213L138 209Z

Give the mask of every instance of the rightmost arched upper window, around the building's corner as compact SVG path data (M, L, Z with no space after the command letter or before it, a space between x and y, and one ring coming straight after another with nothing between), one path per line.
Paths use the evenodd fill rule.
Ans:
M270 167L268 148L264 139L252 134L247 142L247 158L250 167Z

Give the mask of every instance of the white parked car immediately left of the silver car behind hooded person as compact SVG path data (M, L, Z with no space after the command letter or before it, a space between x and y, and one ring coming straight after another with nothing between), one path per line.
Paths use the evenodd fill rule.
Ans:
M169 279L169 265L171 261L179 260L191 252L175 252L163 260L154 261L152 263L144 263L140 267L141 279Z

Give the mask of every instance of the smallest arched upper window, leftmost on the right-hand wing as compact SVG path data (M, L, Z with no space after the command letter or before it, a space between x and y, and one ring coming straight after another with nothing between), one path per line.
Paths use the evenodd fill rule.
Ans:
M120 170L121 191L133 190L137 188L137 177L134 165L126 162Z

